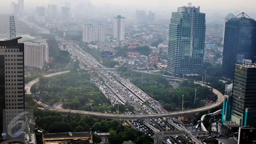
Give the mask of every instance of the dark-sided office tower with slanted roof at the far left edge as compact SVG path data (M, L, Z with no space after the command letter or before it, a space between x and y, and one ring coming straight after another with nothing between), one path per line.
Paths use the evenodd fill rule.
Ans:
M13 39L0 40L0 121L5 124L0 130L4 132L8 132L6 130L8 124L25 108L24 44L18 43L20 38L18 36ZM15 122L18 120L23 121L23 117ZM19 130L20 127L21 124L17 124L12 132Z

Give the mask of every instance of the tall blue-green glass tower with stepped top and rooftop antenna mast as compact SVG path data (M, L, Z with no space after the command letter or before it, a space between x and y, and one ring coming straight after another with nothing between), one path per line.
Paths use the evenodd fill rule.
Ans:
M195 76L204 62L205 13L200 7L178 7L172 12L169 27L168 67L171 76Z

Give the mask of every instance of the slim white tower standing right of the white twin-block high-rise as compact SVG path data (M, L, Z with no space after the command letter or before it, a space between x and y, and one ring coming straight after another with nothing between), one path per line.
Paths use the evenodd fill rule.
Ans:
M113 39L124 40L125 18L117 15L113 18Z

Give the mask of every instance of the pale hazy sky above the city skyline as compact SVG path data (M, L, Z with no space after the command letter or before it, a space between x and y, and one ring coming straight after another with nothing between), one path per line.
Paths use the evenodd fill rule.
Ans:
M0 0L1 3L11 3L18 2L18 0ZM50 0L24 0L26 3L41 3L47 4ZM54 0L53 0L54 1ZM61 0L61 2L83 2L85 0ZM170 7L177 7L182 5L187 5L188 2L192 3L193 6L201 6L201 8L208 8L208 9L225 9L225 8L232 8L232 9L253 9L255 8L254 4L256 3L255 0L91 0L93 4L104 4L109 3L111 5L127 5L127 6L147 6L147 7L155 7L155 6L170 6Z

